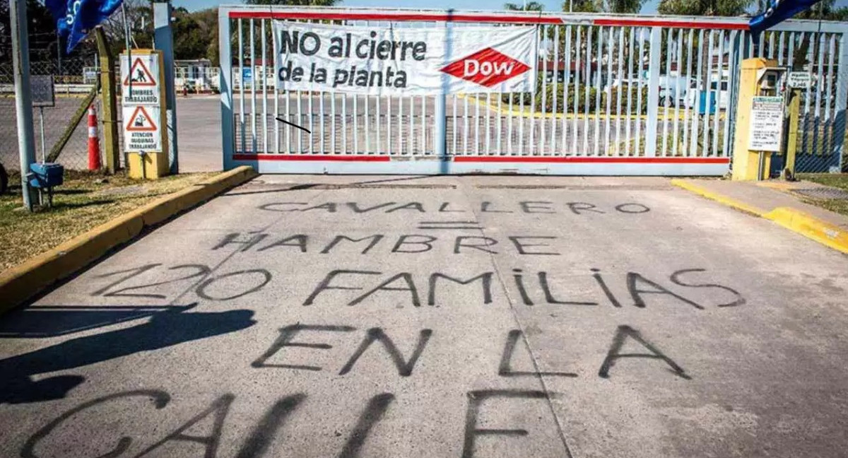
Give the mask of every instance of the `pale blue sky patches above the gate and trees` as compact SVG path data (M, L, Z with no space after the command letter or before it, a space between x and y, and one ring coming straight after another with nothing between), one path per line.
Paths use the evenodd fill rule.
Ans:
M202 9L217 6L219 3L239 3L235 0L172 0L177 7L185 7L188 10ZM349 7L378 7L378 8L436 8L436 9L500 9L503 8L502 0L344 0L340 6ZM522 0L512 0L512 3L522 3ZM545 9L561 11L561 0L545 0L539 3L545 5ZM660 0L647 0L641 13L656 14L656 5ZM837 6L848 6L848 0L836 0Z

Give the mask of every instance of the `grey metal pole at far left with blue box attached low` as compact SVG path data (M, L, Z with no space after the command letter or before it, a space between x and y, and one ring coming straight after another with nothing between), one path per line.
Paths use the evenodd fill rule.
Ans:
M30 164L36 161L36 140L32 127L30 87L30 38L26 28L26 0L9 0L9 22L12 25L12 65L14 67L14 100L18 113L18 152L20 184L24 206L32 210L33 190L27 185Z

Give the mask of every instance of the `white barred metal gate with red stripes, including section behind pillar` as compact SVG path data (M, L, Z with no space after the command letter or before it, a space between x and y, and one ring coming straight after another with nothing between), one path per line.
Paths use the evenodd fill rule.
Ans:
M720 176L733 145L739 62L755 48L812 74L814 87L802 102L800 164L840 165L845 23L787 21L753 43L746 20L736 18L277 6L221 7L219 14L227 169ZM456 33L470 25L536 25L536 92L284 92L276 85L273 20Z

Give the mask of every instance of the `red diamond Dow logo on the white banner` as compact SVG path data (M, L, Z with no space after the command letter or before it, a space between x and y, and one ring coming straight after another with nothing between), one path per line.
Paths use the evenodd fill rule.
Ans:
M493 87L527 70L530 70L530 67L526 64L487 47L448 64L441 71L466 81L476 82L480 86Z

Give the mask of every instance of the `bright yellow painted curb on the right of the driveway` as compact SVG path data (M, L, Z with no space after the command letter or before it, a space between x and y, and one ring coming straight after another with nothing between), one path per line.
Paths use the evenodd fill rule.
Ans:
M799 209L792 207L778 207L770 211L763 211L751 205L739 202L734 198L728 198L718 193L713 193L705 187L700 187L694 183L672 179L672 185L682 187L683 189L696 193L702 197L715 200L720 204L728 205L734 209L739 209L750 215L759 216L769 221L773 221L780 226L789 229L789 231L801 234L804 237L815 240L818 243L848 254L848 231L840 226L835 226L826 221L822 221L817 217L805 213Z

